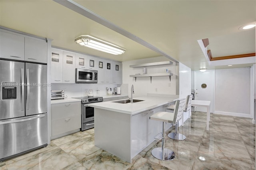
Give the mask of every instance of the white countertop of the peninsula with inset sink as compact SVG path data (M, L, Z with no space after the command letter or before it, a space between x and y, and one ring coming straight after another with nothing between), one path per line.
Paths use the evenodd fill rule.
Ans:
M107 102L100 102L100 103L91 103L91 104L88 104L88 106L98 108L98 109L105 109L109 111L115 111L115 112L134 115L136 113L154 109L156 107L159 107L177 100L177 98L174 98L174 97L152 97L152 96L134 97L134 99L144 100L144 101L140 101L136 103L126 103L126 104L107 101Z

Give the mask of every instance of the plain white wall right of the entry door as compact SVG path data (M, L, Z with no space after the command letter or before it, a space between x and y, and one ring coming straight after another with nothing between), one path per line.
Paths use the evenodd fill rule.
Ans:
M250 117L250 68L216 69L215 113Z

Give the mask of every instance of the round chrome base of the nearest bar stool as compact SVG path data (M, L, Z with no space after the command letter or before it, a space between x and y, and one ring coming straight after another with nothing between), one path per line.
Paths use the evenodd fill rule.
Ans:
M167 148L164 148L164 159L162 158L162 148L161 147L154 148L151 151L151 154L159 160L174 160L174 158L175 158L175 153L172 150L167 149Z

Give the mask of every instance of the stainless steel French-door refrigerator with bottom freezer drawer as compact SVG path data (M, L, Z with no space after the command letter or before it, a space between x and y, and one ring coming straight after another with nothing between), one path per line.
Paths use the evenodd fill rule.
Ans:
M47 146L47 65L0 59L0 162Z

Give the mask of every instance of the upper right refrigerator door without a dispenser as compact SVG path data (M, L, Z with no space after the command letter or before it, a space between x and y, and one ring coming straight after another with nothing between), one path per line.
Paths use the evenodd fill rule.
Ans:
M26 63L26 116L47 113L47 65Z

